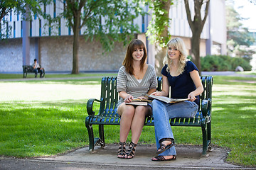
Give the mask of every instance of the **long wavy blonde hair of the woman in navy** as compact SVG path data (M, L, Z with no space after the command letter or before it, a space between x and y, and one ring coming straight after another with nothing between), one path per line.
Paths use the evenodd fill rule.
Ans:
M181 55L178 60L177 73L182 74L184 72L184 68L186 66L186 61L188 61L187 54L186 54L186 47L185 47L183 40L181 38L173 38L173 39L169 40L169 42L167 42L166 47L167 47L166 57L164 57L164 61L163 61L163 64L168 64L166 71L169 72L169 70L171 69L171 59L169 58L169 55L168 55L168 47L174 47L179 52L181 52Z

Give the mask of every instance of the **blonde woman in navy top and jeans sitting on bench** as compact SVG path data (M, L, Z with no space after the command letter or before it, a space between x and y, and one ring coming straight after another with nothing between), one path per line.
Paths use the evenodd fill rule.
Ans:
M181 38L174 38L167 43L164 67L161 70L163 90L154 92L156 96L171 98L190 98L180 103L164 103L153 101L154 128L156 147L159 154L152 161L171 161L176 159L174 134L169 123L170 118L193 118L198 111L199 95L203 92L203 85L198 69L193 62L187 60L186 48Z

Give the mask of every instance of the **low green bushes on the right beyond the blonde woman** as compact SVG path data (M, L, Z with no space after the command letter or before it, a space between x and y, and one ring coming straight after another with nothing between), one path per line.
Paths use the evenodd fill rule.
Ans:
M214 71L235 71L236 67L242 67L245 71L250 71L250 62L240 57L230 57L227 55L207 55L201 57L201 69L203 72Z

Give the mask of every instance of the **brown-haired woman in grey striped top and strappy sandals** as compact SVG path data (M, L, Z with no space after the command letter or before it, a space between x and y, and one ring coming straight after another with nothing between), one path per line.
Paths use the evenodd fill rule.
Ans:
M141 40L132 40L117 76L117 91L120 99L117 103L117 113L120 120L120 142L118 158L131 159L142 133L146 116L151 115L151 106L134 106L125 103L134 98L147 99L146 94L156 91L156 72L154 67L146 64L146 47ZM125 150L125 142L129 131L132 132L132 142Z

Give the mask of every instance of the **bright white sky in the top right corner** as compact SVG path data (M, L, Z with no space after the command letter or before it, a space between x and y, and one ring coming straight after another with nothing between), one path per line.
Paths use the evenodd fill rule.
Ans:
M240 13L242 18L249 18L245 21L241 21L243 27L249 30L256 31L256 0L252 0L254 3L250 3L250 0L234 0L235 11ZM239 8L239 6L243 6Z

